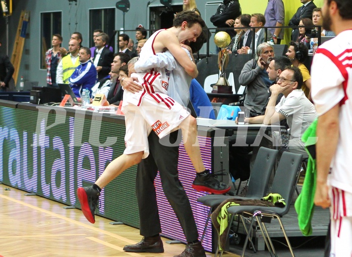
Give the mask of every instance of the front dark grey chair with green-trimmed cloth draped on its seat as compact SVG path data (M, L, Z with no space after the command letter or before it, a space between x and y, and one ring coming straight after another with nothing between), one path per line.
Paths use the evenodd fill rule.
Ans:
M243 246L242 256L244 256L244 254L245 254L247 243L249 240L249 236L252 232L253 225L254 225L255 221L257 221L257 223L258 223L259 229L263 235L264 242L265 242L271 256L277 256L275 248L274 248L272 241L270 239L269 233L268 233L266 226L264 224L264 222L268 222L268 220L272 219L272 218L278 219L278 221L280 223L280 227L281 227L282 232L284 234L284 237L286 239L288 248L291 252L291 255L295 256L295 254L292 250L291 244L288 240L284 226L282 224L281 217L283 215L285 215L290 208L290 204L291 204L292 198L294 196L294 192L295 192L297 176L300 172L301 160L302 160L302 154L284 152L284 153L282 153L280 162L279 162L278 167L276 169L276 174L275 174L274 181L272 184L271 192L278 193L282 196L283 199L285 199L285 202L286 202L285 207L280 208L280 207L258 207L258 206L257 207L255 207L255 206L232 206L227 209L228 214L231 214L231 219L230 219L229 224L232 224L233 217L235 215L246 214L246 215L252 216L251 224L250 224L249 230L247 232L246 240L245 240L245 243ZM247 210L246 210L246 208L247 208ZM220 256L222 255L222 252L220 253Z

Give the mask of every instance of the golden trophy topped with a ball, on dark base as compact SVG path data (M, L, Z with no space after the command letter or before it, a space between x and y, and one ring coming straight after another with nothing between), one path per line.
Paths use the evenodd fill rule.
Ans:
M214 36L214 43L217 47L220 48L219 57L217 61L220 70L220 77L217 82L213 85L213 90L211 91L211 93L233 94L232 86L228 83L225 74L225 68L227 67L229 60L227 47L229 46L230 42L230 36L224 31L220 31Z

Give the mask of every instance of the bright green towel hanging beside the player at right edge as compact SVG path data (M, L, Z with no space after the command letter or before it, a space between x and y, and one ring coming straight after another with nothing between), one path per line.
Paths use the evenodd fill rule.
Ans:
M308 153L308 165L306 177L303 182L301 194L298 196L295 209L298 214L298 225L302 234L309 236L312 234L312 217L314 213L314 194L316 189L316 160L312 147L316 144L316 129L318 120L316 119L302 136ZM314 156L313 156L314 155Z

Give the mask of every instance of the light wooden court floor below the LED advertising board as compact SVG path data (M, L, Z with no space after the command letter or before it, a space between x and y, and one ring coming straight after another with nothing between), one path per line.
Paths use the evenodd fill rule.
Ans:
M5 190L5 189L10 190ZM96 217L90 224L78 209L0 184L0 256L4 257L97 257L158 256L180 254L184 244L167 244L164 253L128 253L126 244L139 242L139 230L127 225L110 225ZM207 252L207 257L214 254ZM224 253L224 257L238 256Z

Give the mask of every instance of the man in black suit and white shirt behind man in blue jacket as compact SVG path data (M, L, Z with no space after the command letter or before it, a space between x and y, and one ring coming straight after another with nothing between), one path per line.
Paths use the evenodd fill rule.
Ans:
M112 52L105 47L109 37L105 33L100 33L95 37L95 53L93 63L98 72L98 80L106 77L111 70L111 62L113 61Z

